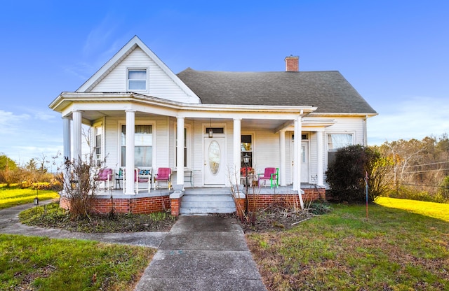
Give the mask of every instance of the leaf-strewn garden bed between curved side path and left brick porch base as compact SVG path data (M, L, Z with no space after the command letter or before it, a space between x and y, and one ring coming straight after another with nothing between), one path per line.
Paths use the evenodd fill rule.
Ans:
M57 203L32 207L19 213L20 222L37 227L53 227L70 232L168 232L176 218L168 212L149 214L114 213L91 215L90 219L71 220Z

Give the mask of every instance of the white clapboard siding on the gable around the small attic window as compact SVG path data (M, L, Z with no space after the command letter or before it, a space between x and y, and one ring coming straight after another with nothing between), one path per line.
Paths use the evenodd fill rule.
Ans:
M172 101L189 102L186 92L140 48L135 48L120 64L112 69L98 85L93 87L92 92L126 92L128 68L148 69L148 90L142 92L142 94ZM181 81L179 80L179 82Z

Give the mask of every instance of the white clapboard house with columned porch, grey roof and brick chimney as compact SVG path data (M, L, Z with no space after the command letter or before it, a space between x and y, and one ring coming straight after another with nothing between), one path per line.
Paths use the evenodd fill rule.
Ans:
M182 195L193 189L240 184L245 155L257 173L279 169L279 188L267 193L313 187L323 194L329 158L342 146L366 145L366 121L377 113L338 71L299 71L293 56L285 62L281 72L175 74L134 36L49 107L62 115L65 157L81 156L85 124L93 128L95 157L106 157L116 173L126 170L116 199L163 196L136 194L132 175L168 167L177 191L166 197L182 207Z

